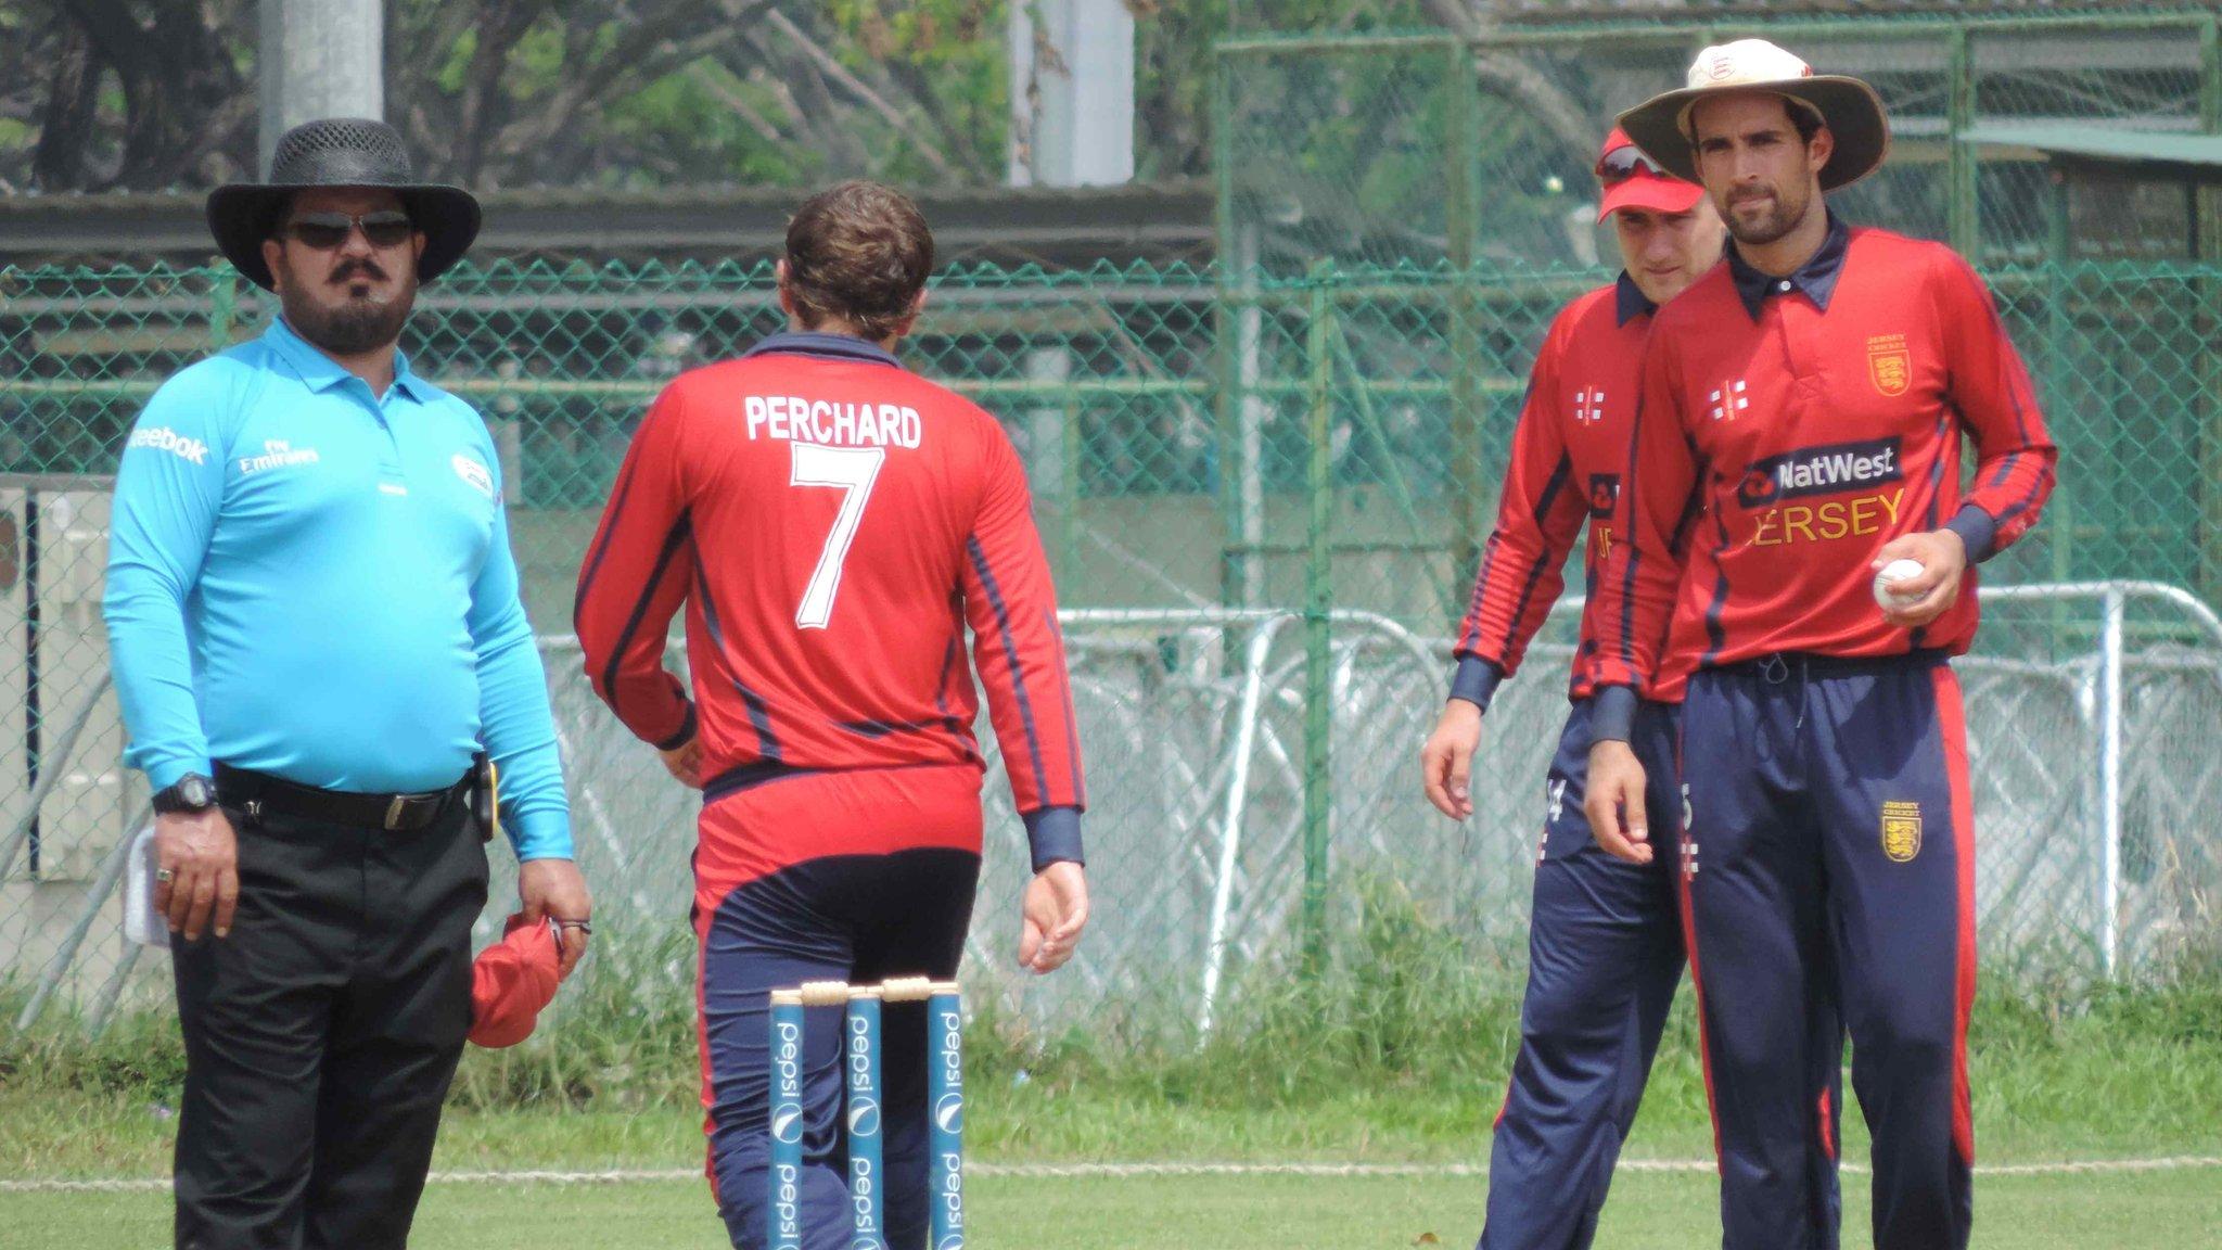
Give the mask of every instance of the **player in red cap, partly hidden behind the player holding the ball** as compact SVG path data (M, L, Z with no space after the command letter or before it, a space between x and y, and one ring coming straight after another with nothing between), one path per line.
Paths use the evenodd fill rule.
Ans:
M1420 752L1427 798L1453 821L1473 816L1469 776L1482 716L1551 612L1584 523L1582 567L1591 583L1613 545L1651 316L1720 260L1720 214L1704 189L1664 173L1620 129L1607 136L1595 173L1598 220L1613 222L1624 269L1558 314L1529 374L1498 523L1458 629L1451 698ZM1582 816L1598 636L1591 616L1582 618L1573 707L1544 781L1549 814L1535 859L1520 1054L1489 1152L1480 1250L1582 1250L1595 1239L1682 979L1669 865L1613 859ZM1635 718L1651 816L1664 825L1680 807L1678 701L1680 690L1647 692ZM1833 1032L1835 1021L1820 1028ZM1833 1163L1815 1150L1813 1168L1833 1197ZM1833 1210L1826 1228L1835 1228Z

